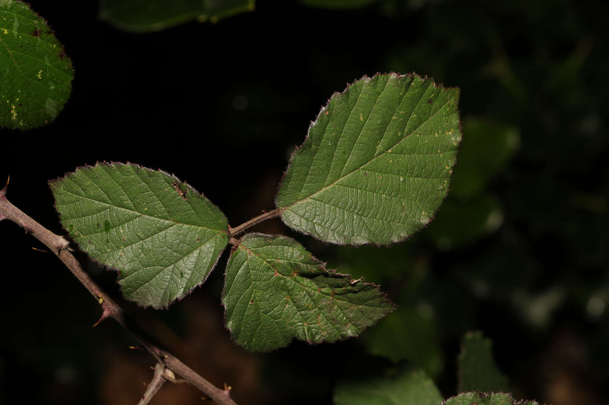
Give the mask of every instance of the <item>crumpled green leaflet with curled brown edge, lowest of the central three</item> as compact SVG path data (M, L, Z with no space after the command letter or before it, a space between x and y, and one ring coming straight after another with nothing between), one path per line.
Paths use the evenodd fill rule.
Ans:
M234 341L270 352L357 336L395 308L379 288L325 270L294 239L246 234L231 251L222 304Z

